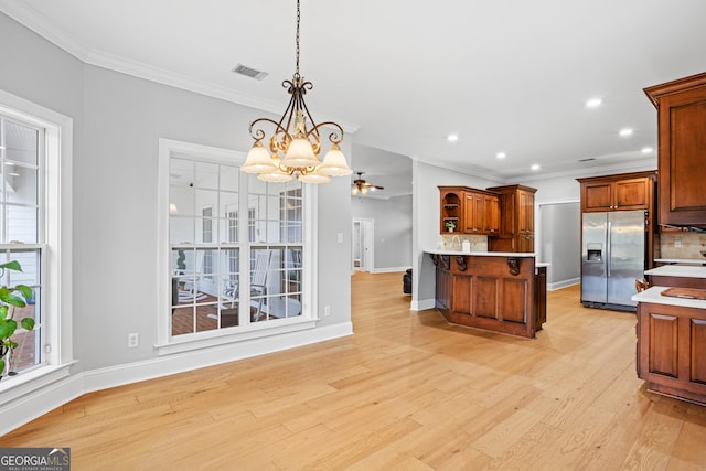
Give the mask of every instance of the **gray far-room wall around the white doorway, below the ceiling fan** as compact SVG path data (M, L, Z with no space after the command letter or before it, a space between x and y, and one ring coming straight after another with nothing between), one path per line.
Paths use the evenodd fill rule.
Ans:
M373 272L411 267L411 195L353 197L353 217L375 221Z

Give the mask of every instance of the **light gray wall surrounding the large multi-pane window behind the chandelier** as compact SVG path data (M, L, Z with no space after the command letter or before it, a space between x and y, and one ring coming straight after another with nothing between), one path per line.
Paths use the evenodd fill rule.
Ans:
M0 56L1 89L74 119L74 270L63 280L73 286L74 372L156 357L158 139L247 152L249 121L267 114L83 64L2 13ZM325 327L351 315L341 268L350 265L349 179L322 185L318 201ZM139 347L126 347L129 332Z

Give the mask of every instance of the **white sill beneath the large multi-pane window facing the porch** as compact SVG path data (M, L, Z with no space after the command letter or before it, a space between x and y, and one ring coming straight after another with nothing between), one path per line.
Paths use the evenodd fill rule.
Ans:
M247 331L236 329L222 329L218 331L204 332L203 335L190 334L189 338L172 338L168 343L154 345L159 355L171 355L174 353L191 352L200 349L226 345L237 342L270 338L292 332L299 332L317 327L318 319L292 318L281 321L267 321L267 325L256 325Z

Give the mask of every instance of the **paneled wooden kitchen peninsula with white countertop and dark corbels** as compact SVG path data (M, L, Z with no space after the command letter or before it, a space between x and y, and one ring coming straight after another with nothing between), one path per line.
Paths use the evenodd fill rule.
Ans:
M435 306L454 324L534 338L546 321L546 267L533 253L426 250Z

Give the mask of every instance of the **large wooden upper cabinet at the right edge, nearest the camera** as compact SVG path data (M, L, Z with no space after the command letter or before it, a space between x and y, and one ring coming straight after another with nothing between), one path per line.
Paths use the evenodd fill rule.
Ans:
M706 73L644 92L657 108L660 224L706 226Z

